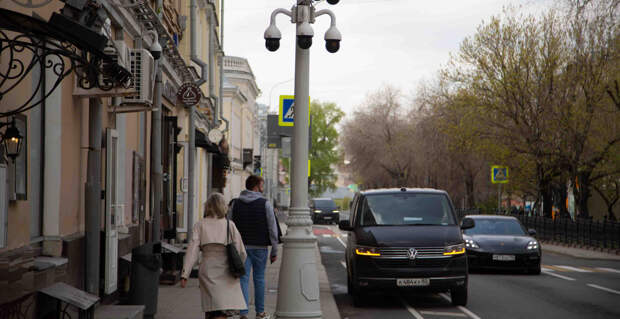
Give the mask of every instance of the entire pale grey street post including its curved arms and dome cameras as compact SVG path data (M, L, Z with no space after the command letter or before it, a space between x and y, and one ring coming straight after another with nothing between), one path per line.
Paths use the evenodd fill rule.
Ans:
M329 0L330 4L338 0ZM266 47L276 51L282 35L275 18L285 14L296 24L295 50L295 129L293 131L291 208L284 236L282 265L278 281L278 300L275 316L283 318L321 318L319 284L316 265L316 237L308 208L308 120L310 96L310 51L314 31L310 26L324 14L331 17L331 26L325 33L326 48L334 53L340 48L341 35L336 28L336 17L330 10L316 11L313 0L296 0L291 11L276 9L271 14L265 31Z

